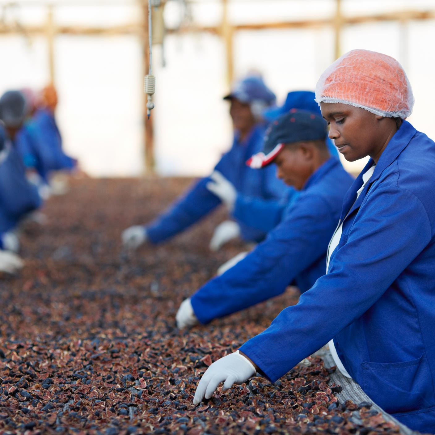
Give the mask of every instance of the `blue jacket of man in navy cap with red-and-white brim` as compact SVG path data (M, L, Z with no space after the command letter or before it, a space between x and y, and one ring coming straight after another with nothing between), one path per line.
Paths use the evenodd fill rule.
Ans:
M191 298L201 323L239 311L285 291L301 292L325 274L326 251L353 178L331 157L306 182L281 223L242 261Z

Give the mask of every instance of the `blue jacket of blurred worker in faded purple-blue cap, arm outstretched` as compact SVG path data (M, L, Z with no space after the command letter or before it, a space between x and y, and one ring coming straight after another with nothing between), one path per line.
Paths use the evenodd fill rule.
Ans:
M273 167L252 169L245 163L253 154L261 151L265 128L257 125L243 142L234 136L231 150L225 153L215 166L242 194L264 199L281 198L288 187L278 180ZM221 204L221 200L212 194L206 186L210 181L204 177L197 181L164 214L146 227L148 238L159 243L188 228ZM237 220L237 219L236 219ZM239 222L241 237L246 241L260 241L265 233Z

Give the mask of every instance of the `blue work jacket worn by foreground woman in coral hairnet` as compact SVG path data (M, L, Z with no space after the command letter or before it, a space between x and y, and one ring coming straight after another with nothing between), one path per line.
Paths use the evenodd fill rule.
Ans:
M242 347L275 381L329 340L365 393L435 432L435 144L404 121L345 197L328 274ZM355 202L355 204L354 204Z

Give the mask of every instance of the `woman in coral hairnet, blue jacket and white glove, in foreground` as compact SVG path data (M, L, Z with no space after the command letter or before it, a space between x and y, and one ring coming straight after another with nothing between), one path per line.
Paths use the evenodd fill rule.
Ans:
M414 98L396 60L352 50L316 100L349 161L370 160L346 194L327 274L240 350L214 362L194 398L263 373L272 382L326 343L337 367L400 422L435 429L435 144L405 119Z

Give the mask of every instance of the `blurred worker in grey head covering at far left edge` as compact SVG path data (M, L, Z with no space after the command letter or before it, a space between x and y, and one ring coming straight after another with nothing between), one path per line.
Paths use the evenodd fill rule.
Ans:
M14 234L17 224L41 205L37 187L26 178L26 170L15 147L15 139L27 115L26 100L19 91L7 91L0 98L4 145L0 163L0 238L3 249L18 251Z

